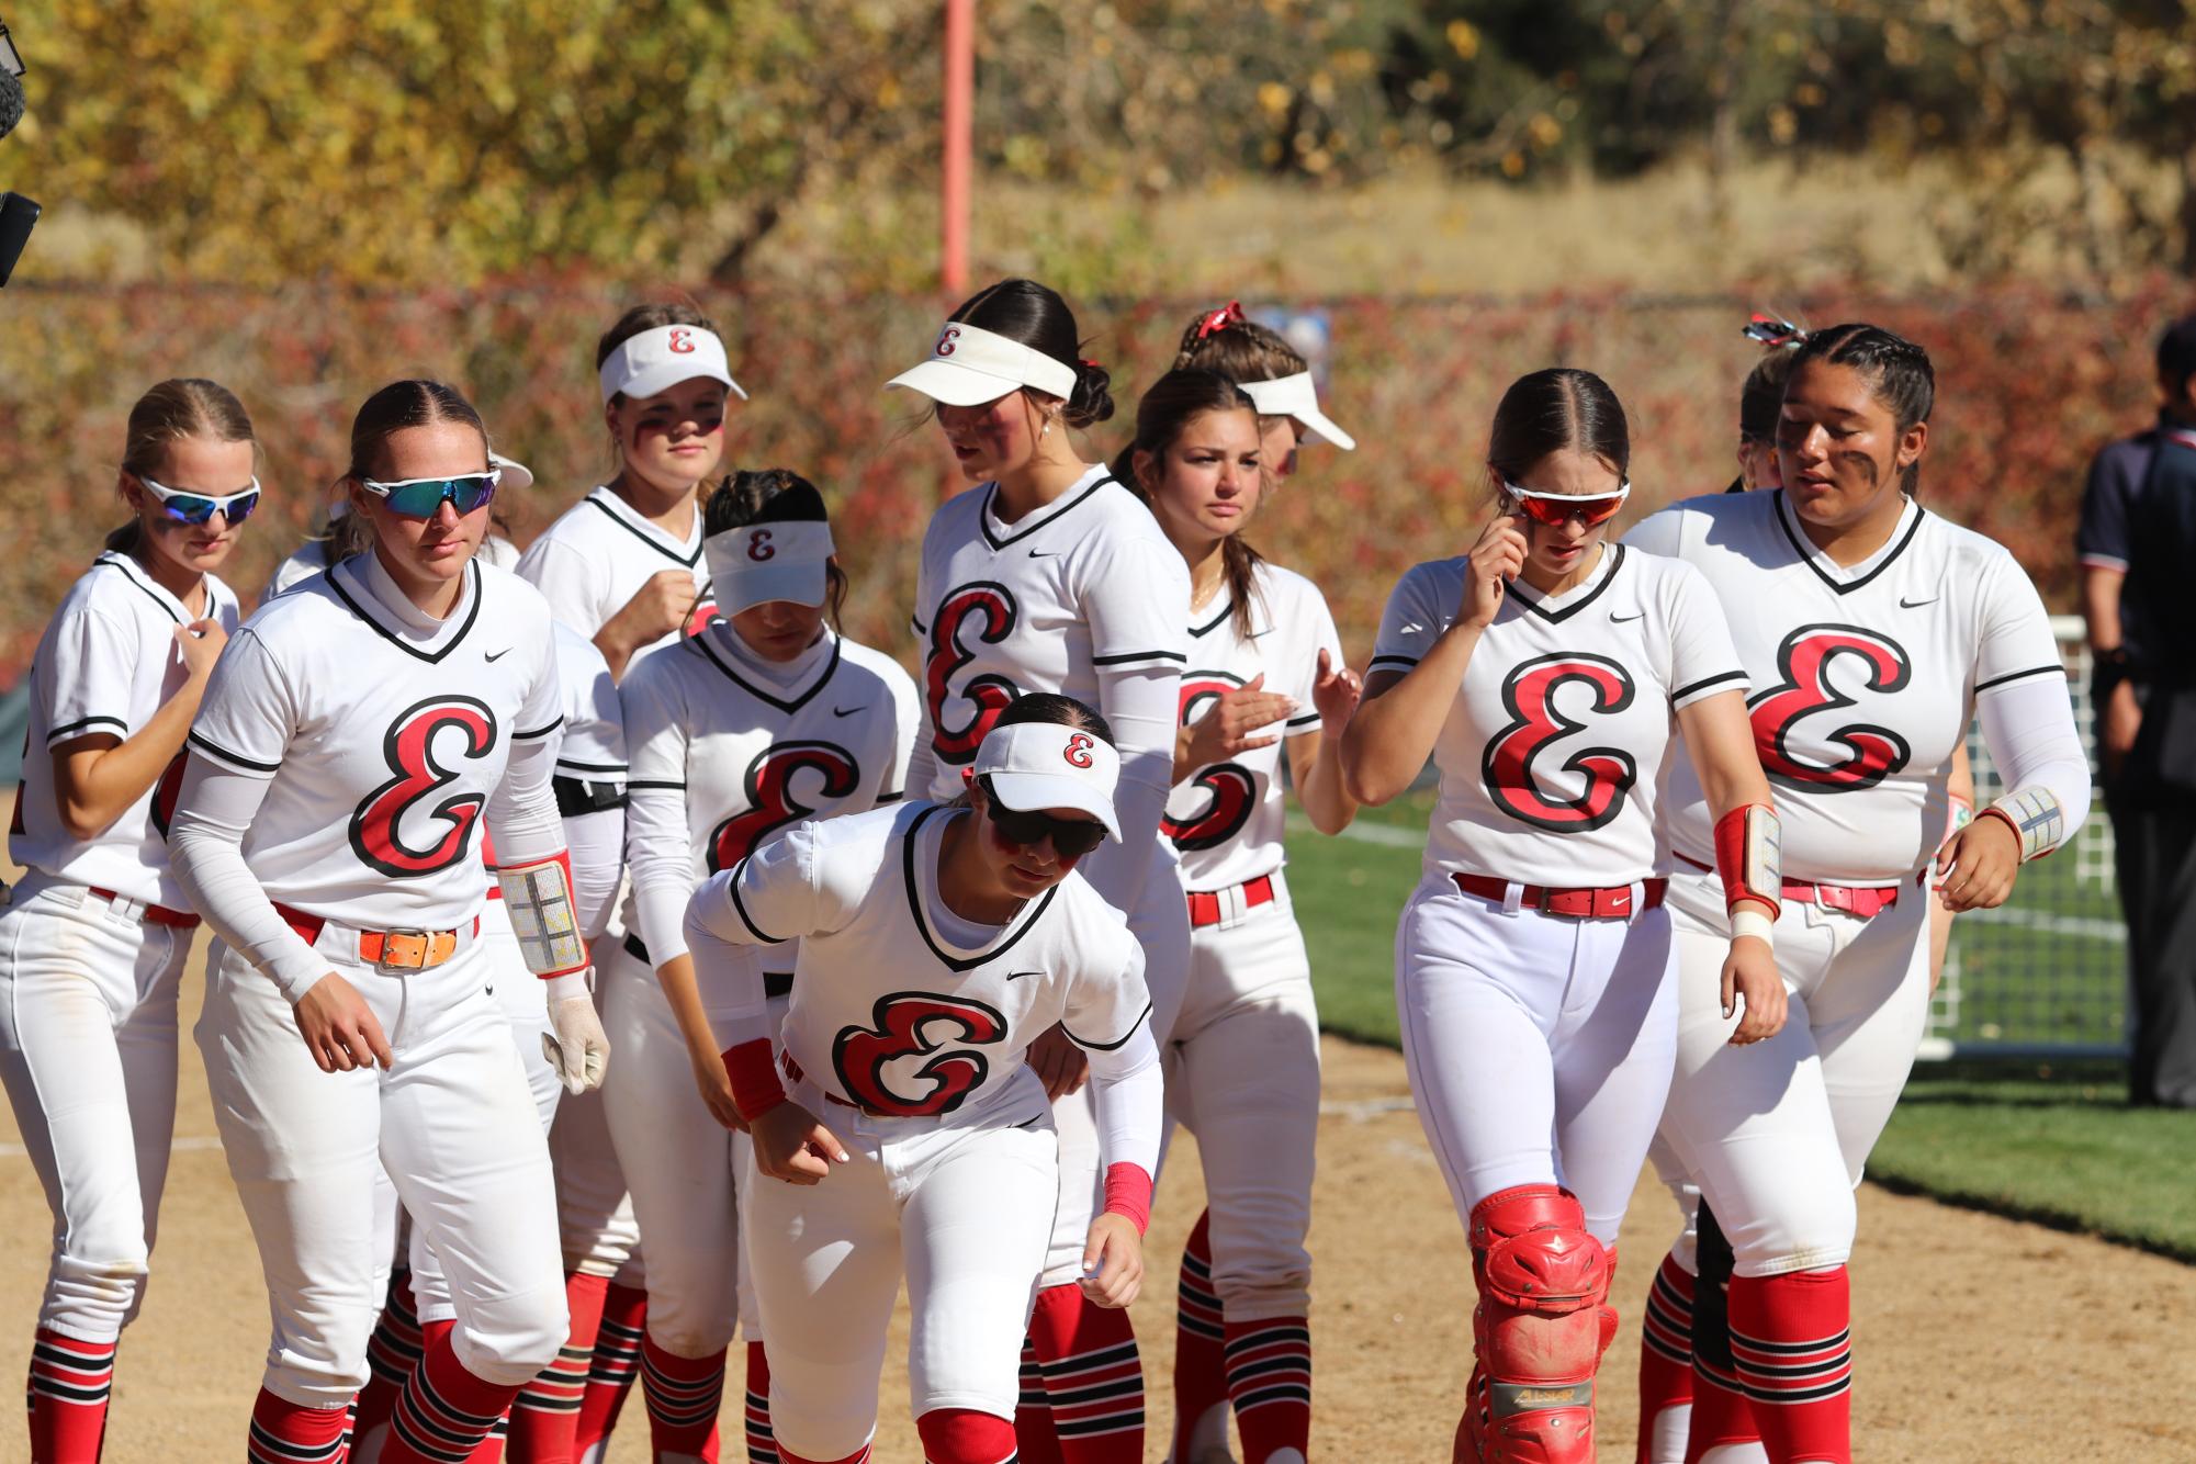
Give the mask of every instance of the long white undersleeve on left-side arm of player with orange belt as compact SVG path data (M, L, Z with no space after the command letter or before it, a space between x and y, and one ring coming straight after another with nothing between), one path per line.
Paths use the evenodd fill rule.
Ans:
M167 847L176 880L213 933L266 972L296 1003L329 964L274 913L259 880L244 865L244 830L253 825L268 781L191 753L176 795Z

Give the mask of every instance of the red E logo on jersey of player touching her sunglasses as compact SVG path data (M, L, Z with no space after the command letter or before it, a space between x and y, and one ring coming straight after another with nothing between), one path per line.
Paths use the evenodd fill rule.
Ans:
M1632 705L1632 674L1607 656L1577 652L1526 661L1502 683L1502 707L1511 724L1487 742L1480 777L1487 797L1511 819L1555 834L1583 834L1623 812L1625 795L1638 781L1632 753L1614 746L1588 746L1566 757L1559 768L1586 779L1577 797L1550 797L1535 773L1535 759L1586 722L1575 722L1555 709L1555 694L1568 685L1590 691L1588 711L1614 716Z

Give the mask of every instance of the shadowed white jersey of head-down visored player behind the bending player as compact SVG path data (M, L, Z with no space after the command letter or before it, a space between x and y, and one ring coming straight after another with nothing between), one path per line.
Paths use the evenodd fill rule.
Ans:
M802 819L898 799L920 718L907 672L828 628L773 665L718 621L632 667L619 694L632 744L626 928L657 966L685 953L687 898L712 874ZM771 968L791 970L791 957Z

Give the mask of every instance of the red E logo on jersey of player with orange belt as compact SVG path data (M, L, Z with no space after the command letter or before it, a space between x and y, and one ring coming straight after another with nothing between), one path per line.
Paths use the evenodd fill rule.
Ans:
M472 825L488 797L461 792L437 803L437 795L457 781L457 770L444 757L452 751L461 759L488 757L494 748L496 716L488 702L430 696L400 711L382 733L382 757L395 777L369 792L351 814L351 852L393 880L437 874L466 858ZM406 830L406 821L413 830ZM426 827L417 827L419 823ZM413 843L422 832L430 841Z

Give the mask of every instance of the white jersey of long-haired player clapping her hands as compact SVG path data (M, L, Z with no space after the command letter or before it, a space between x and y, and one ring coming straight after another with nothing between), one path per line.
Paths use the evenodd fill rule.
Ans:
M1175 784L1162 832L1181 852L1184 889L1228 889L1280 869L1287 797L1280 762L1287 737L1320 731L1311 687L1324 650L1340 669L1342 637L1320 586L1278 564L1254 571L1252 632L1236 634L1234 601L1217 604L1190 626L1190 665L1181 672L1181 724L1203 720L1228 691L1261 674L1265 689L1296 700L1296 711L1263 729L1274 746L1206 764Z

